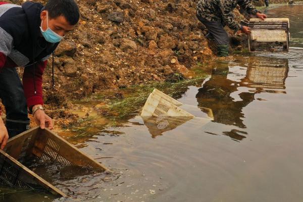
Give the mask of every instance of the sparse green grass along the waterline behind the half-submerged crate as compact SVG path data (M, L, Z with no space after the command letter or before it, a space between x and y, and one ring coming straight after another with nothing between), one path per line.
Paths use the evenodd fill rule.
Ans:
M188 89L188 86L197 86L201 84L207 74L201 70L201 66L193 68L194 78L184 79L182 75L176 74L177 82L150 82L144 85L134 85L127 87L125 89L120 89L124 97L117 98L111 96L115 92L110 92L109 94L94 94L90 97L87 97L80 102L77 102L78 105L86 105L89 103L106 103L106 109L109 111L108 118L110 119L127 119L134 114L138 114L140 109L143 107L148 95L157 88L158 90L163 91L164 93L172 96L174 98L180 98L183 93ZM108 98L111 97L111 98Z

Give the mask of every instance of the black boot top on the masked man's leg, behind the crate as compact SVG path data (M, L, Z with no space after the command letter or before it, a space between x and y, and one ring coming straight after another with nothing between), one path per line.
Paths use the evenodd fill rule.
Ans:
M26 130L28 130L30 120L11 120L6 119L6 128L8 129L9 137L12 138Z

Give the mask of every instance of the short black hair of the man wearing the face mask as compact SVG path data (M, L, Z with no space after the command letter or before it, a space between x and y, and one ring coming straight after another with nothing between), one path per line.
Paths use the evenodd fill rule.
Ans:
M64 16L70 25L79 21L79 8L74 0L48 0L44 7L50 18Z

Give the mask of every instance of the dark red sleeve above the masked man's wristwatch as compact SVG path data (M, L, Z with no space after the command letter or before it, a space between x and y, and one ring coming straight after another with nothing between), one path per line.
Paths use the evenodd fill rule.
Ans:
M47 60L39 62L35 68L35 76L33 73L33 67L24 68L23 73L23 88L26 97L27 106L31 107L34 105L43 105L42 98L42 75L46 67ZM35 79L34 79L35 78ZM35 92L35 86L36 92Z

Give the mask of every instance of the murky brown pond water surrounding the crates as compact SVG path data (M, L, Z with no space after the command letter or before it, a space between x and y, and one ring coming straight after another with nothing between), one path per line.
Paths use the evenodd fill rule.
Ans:
M290 18L288 54L218 61L204 69L210 73L204 81L177 97L212 109L213 121L160 130L134 115L93 126L90 135L68 140L113 174L59 177L57 187L76 201L301 201L302 11L303 5L266 11ZM7 202L60 201L36 193L5 196Z

